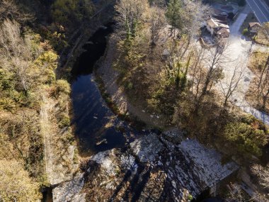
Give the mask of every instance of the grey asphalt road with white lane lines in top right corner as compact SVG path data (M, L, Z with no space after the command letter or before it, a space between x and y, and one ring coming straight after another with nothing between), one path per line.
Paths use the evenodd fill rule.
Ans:
M269 8L263 0L246 0L246 2L261 24L269 21Z

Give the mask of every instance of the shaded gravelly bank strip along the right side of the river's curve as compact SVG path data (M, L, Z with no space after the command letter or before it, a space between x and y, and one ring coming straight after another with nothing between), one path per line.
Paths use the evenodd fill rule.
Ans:
M108 39L108 47L106 48L105 55L96 64L96 74L101 78L105 93L110 96L110 100L118 109L119 114L127 114L131 120L139 120L146 124L146 128L167 128L165 120L161 116L147 111L145 106L141 103L134 104L130 98L125 94L122 86L117 81L120 75L116 69L113 68L113 62L116 60L117 40L115 35L110 35ZM100 84L100 82L98 82Z

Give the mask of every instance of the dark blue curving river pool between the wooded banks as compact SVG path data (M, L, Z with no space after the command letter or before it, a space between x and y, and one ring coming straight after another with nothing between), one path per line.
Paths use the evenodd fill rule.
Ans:
M113 32L113 23L100 28L84 45L85 52L77 59L71 73L71 100L73 103L75 134L82 152L90 155L124 145L135 139L138 132L120 120L110 110L96 82L93 67L105 53L107 36Z

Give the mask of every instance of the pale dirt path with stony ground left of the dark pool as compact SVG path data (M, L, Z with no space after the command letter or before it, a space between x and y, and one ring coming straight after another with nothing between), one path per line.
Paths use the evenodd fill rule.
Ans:
M76 147L64 144L62 141L62 138L66 138L67 132L59 133L56 113L57 101L50 99L47 92L44 91L40 109L40 125L44 138L45 169L51 185L71 180L77 169L77 164L74 164Z

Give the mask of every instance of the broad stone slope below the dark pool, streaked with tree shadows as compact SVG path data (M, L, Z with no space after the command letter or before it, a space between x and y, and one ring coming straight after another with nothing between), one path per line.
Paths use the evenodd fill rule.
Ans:
M93 155L81 193L86 201L188 201L236 169L234 162L222 165L218 152L178 130L151 133L128 148Z

